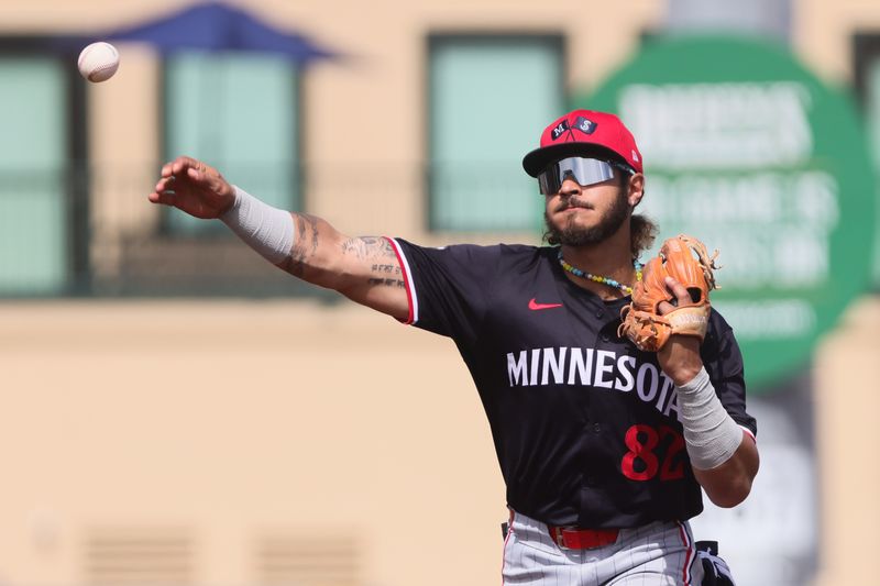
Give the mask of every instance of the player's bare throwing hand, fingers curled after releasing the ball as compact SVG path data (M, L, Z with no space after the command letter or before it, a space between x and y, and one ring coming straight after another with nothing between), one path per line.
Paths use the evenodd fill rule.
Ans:
M235 190L220 172L190 157L177 157L162 167L162 178L147 196L153 203L172 206L196 218L220 218L235 201Z

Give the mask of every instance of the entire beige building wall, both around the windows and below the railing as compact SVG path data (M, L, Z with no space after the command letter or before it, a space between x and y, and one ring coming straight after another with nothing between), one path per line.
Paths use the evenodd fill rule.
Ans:
M182 4L7 0L0 32L100 30ZM316 168L418 169L431 31L562 32L579 87L597 84L663 15L653 0L248 5L353 56L308 74L305 154ZM793 12L807 66L849 81L850 35L880 30L880 4L800 0ZM113 82L89 89L92 159L132 178L96 188L97 237L155 221L146 203L121 202L152 186L156 75L151 53L129 46ZM343 231L464 237L425 233L417 176L366 186L381 200L337 197L364 187L344 179L327 176L309 194L310 211ZM112 270L112 247L102 250L96 264ZM865 317L850 310L815 362L823 586L871 583L880 521L876 458L860 435L878 412L867 365L880 351L880 302L857 307ZM0 324L0 582L81 583L87 538L119 527L189 534L195 584L253 583L262 537L352 531L362 585L447 584L438 555L462 584L499 582L504 488L450 342L365 309L296 301L3 302Z

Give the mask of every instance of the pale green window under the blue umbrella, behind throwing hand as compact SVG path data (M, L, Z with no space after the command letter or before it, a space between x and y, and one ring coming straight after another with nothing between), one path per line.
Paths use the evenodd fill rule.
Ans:
M296 66L287 59L176 54L166 69L166 158L200 158L263 201L298 209L297 111ZM178 234L220 228L183 213L166 220Z

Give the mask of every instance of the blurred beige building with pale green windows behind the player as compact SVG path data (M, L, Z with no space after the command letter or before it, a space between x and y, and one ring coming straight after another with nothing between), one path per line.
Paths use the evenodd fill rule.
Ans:
M339 56L125 44L92 86L45 38L185 4L4 3L0 584L497 584L504 488L454 345L337 303L146 194L191 154L352 235L537 243L521 155L646 35L729 25L696 4L253 0L238 5ZM737 27L853 88L880 145L880 5L763 5ZM813 365L816 584L872 583L859 433L880 407L879 327L866 294Z

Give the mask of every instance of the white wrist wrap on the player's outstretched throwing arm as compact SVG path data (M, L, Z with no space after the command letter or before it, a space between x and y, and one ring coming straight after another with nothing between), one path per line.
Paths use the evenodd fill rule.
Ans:
M294 245L290 212L273 208L235 186L233 188L235 202L220 220L273 264L287 258Z

